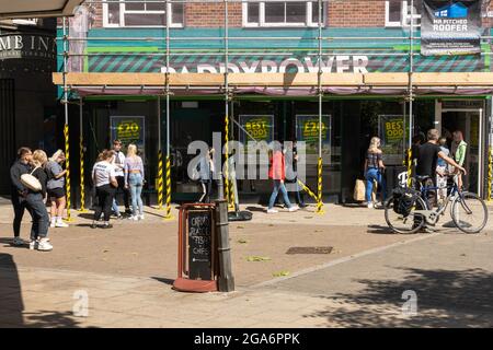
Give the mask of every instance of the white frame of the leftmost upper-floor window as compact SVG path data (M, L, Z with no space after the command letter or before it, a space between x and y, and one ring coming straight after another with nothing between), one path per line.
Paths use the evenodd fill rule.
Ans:
M115 3L115 2L112 2ZM167 15L167 22L170 23L170 27L171 28L183 28L185 23L183 19L183 23L173 23L171 22L172 18L173 18L173 13L172 13L172 2L169 2L167 4L167 10L165 11L156 11L156 10L126 10L125 9L125 0L119 0L119 23L118 24L113 24L110 23L108 21L108 2L107 1L103 1L103 27L105 28L162 28L165 27L164 24L162 25L125 25L125 14L165 14ZM145 3L146 4L146 3ZM123 23L123 25L122 25Z

